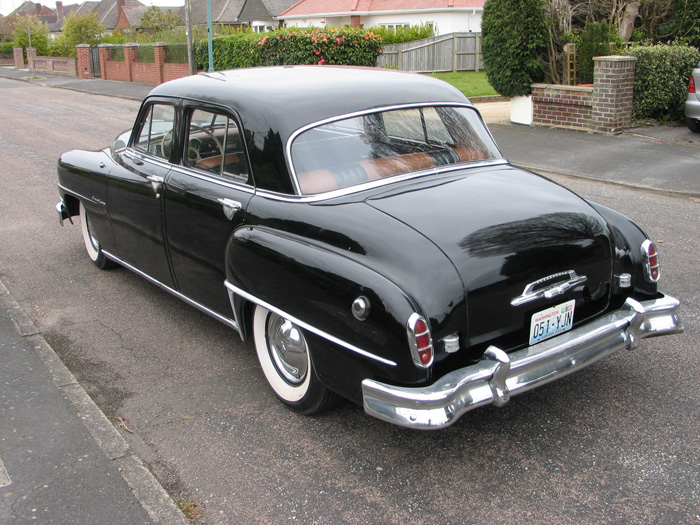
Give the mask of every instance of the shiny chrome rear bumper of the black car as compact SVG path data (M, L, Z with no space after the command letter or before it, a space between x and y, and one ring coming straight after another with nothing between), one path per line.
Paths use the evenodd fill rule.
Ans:
M430 430L454 423L464 413L532 390L587 367L646 337L683 331L680 302L670 296L627 299L616 312L534 346L506 354L494 346L474 365L419 388L362 382L365 412L396 425Z

